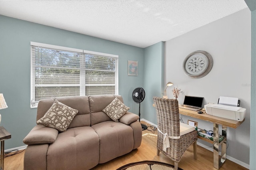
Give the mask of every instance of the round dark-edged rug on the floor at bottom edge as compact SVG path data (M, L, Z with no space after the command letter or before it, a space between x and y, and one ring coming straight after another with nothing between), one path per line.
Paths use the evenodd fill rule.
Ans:
M164 162L144 160L141 162L126 164L117 170L174 170L174 165L166 164ZM182 169L178 168L178 170Z

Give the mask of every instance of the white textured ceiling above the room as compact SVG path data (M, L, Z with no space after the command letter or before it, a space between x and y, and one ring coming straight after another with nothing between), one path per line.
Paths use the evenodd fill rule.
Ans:
M244 0L0 0L1 15L143 48L244 8Z

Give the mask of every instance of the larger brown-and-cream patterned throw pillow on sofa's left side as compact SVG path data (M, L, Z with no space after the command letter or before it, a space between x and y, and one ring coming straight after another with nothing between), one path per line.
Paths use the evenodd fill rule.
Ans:
M78 110L55 100L50 109L36 123L65 132L77 113Z

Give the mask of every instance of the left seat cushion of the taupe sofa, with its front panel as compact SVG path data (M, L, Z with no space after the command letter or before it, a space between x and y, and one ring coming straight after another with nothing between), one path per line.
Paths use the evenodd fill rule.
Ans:
M99 163L99 147L98 134L92 127L68 128L50 144L47 170L91 169Z

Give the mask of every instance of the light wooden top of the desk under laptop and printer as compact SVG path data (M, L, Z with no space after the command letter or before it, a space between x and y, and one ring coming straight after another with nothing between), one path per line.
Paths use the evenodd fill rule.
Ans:
M234 120L231 120L231 119L226 119L226 118L222 118L222 117L216 117L216 116L208 115L206 113L199 114L199 113L197 113L197 111L190 111L188 109L182 109L182 108L179 109L179 112L180 112L181 115L194 117L196 119L201 119L201 120L204 120L204 121L216 123L216 124L219 124L219 125L224 125L224 126L231 127L231 128L237 128L237 127L239 127L239 125L241 125L244 122L244 120L241 121L241 122L240 121L234 121Z

